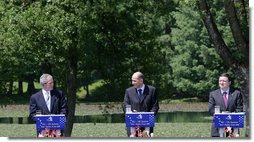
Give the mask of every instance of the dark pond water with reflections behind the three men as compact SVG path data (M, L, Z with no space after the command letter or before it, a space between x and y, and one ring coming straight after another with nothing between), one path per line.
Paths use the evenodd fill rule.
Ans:
M155 122L211 122L208 112L159 112ZM75 116L74 123L124 123L124 114ZM0 123L32 124L28 117L0 117Z

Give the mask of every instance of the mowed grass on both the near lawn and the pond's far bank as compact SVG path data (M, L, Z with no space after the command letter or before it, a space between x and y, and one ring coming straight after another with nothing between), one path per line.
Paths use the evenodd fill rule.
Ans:
M107 105L108 113L122 112L121 103L82 103L77 104L76 115L103 114ZM26 117L29 105L1 106L1 117ZM205 111L207 103L171 103L161 104L161 112L171 111ZM210 138L211 123L155 123L155 138ZM240 137L244 138L245 128ZM35 124L1 124L1 137L35 138ZM76 138L126 138L125 123L74 123L72 137Z

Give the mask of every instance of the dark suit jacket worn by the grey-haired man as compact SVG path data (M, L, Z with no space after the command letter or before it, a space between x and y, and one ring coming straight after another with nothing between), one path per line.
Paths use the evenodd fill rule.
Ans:
M30 98L30 114L29 117L36 121L36 111L40 110L41 114L65 114L67 115L67 105L64 95L59 90L51 90L51 109L48 110L42 90L32 95Z

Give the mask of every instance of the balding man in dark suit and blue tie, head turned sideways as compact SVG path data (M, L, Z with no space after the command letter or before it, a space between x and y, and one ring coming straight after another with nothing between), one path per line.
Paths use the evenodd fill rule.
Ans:
M135 72L131 79L133 86L125 91L124 112L126 105L131 105L133 112L154 112L156 114L159 110L156 88L144 84L144 75L141 72ZM131 135L130 128L127 128L127 135L128 137ZM150 135L153 135L153 128L150 128Z

